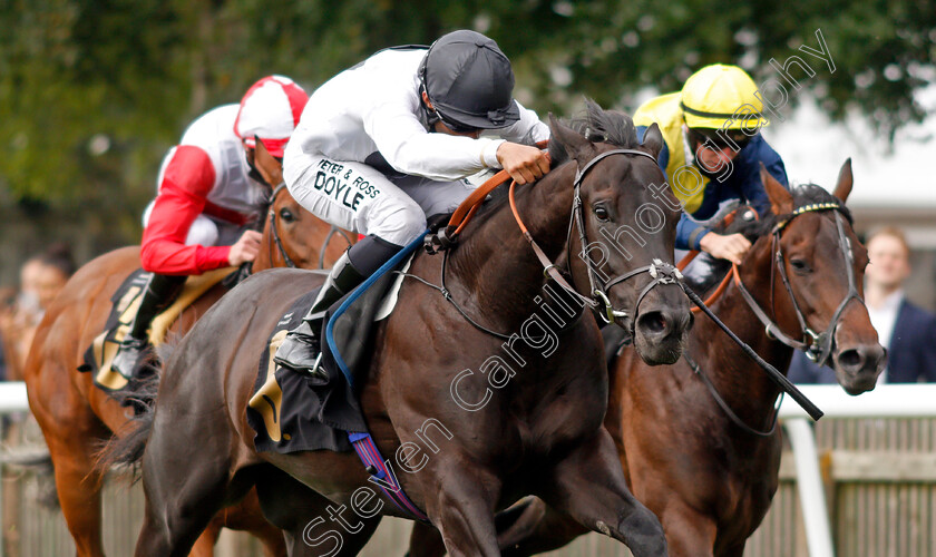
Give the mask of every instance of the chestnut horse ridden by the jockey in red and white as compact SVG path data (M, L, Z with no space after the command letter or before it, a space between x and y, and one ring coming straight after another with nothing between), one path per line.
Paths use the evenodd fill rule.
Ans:
M275 183L275 182L274 182ZM271 196L261 251L253 271L292 264L314 268L320 246L331 238L328 224L304 211L284 188ZM325 260L333 262L347 247L331 242ZM105 326L110 297L139 267L139 247L124 247L87 263L68 281L46 312L27 362L29 405L49 447L62 514L79 556L104 555L101 545L100 482L96 452L128 422L128 409L91 382L94 373L78 372L82 354ZM226 289L216 285L187 307L170 333L182 335L193 326ZM247 529L264 540L269 555L284 554L282 534L263 520L256 498L228 509L199 540L197 555L212 555L221 524Z

